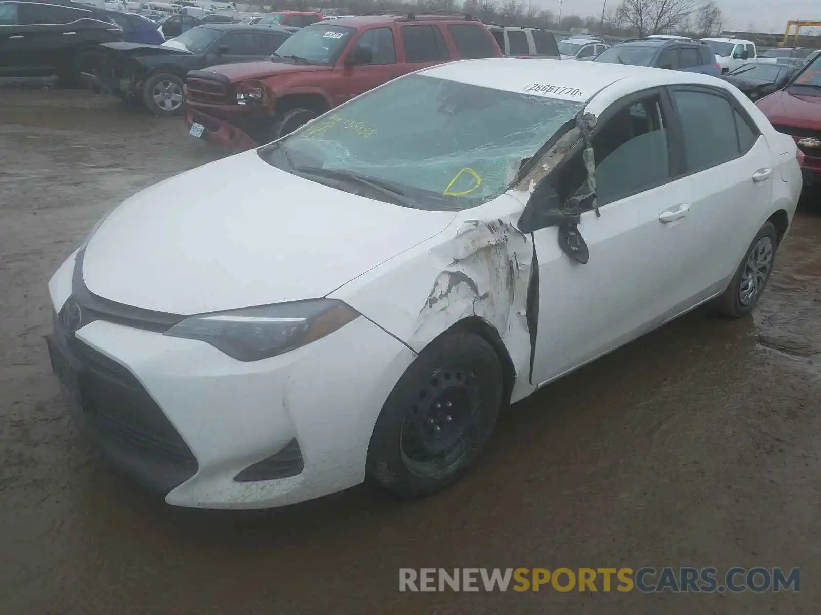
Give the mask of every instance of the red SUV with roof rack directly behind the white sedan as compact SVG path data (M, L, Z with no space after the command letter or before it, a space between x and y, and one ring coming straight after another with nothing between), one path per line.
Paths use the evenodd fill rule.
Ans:
M242 151L425 66L502 57L479 20L458 15L369 14L320 21L282 43L270 60L190 71L189 132Z

